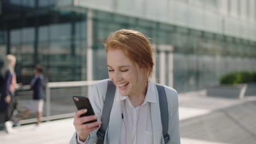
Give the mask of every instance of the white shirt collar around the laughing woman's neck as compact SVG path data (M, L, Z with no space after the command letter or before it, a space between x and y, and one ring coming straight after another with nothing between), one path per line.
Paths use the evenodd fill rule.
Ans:
M144 103L156 103L156 94L155 94L155 87L154 87L155 83L149 78L148 79L148 90L147 90L147 94L146 94L146 98L143 102ZM117 89L117 97L115 98L115 100L125 100L127 99L127 96L123 96L119 93L119 90Z

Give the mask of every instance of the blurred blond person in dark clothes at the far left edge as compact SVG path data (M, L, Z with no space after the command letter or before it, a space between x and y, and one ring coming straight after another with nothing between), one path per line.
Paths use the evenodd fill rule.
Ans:
M13 130L13 112L16 109L16 100L14 97L16 87L16 74L14 67L16 64L16 57L7 55L4 67L1 70L1 99L0 99L0 112L4 120L4 128L7 133L14 132ZM2 119L1 119L2 120Z

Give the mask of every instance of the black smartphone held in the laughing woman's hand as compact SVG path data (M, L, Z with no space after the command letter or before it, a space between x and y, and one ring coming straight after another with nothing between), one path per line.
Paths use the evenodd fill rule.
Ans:
M77 106L78 110L87 109L87 112L84 113L83 115L81 115L80 117L95 115L94 110L91 107L90 100L88 98L73 96L73 100L74 100L75 106ZM89 121L89 122L85 122L85 123L93 123L93 122L97 122L97 119ZM85 123L83 123L83 124L85 124Z

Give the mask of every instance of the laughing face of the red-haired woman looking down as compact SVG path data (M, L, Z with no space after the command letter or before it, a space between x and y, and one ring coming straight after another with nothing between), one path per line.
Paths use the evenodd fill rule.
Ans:
M109 79L114 82L121 95L137 94L142 87L142 69L133 64L123 50L110 49L107 52L107 65Z

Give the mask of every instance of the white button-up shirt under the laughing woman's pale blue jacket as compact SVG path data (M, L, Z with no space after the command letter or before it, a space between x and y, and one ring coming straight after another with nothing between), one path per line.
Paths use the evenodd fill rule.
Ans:
M141 110L139 110L139 106L133 107L129 97L120 95L119 91L116 96L117 97L115 97L115 100L120 101L123 105L123 114L124 114L124 121L122 121L122 125L121 125L121 131L120 131L121 135L120 135L119 143L130 144L132 143L132 141L133 141L133 144L154 143L153 125L152 125L152 118L151 118L151 111L150 111L150 103L157 103L156 95L154 92L154 83L150 80L148 81L147 94L141 105ZM137 124L137 132L136 132L136 123L138 118L139 118L139 121ZM125 135L126 135L126 142L125 142ZM134 140L133 140L133 137L134 137ZM78 139L78 143L88 143L89 140L90 140L90 135L88 136L88 139L85 142L79 141Z

